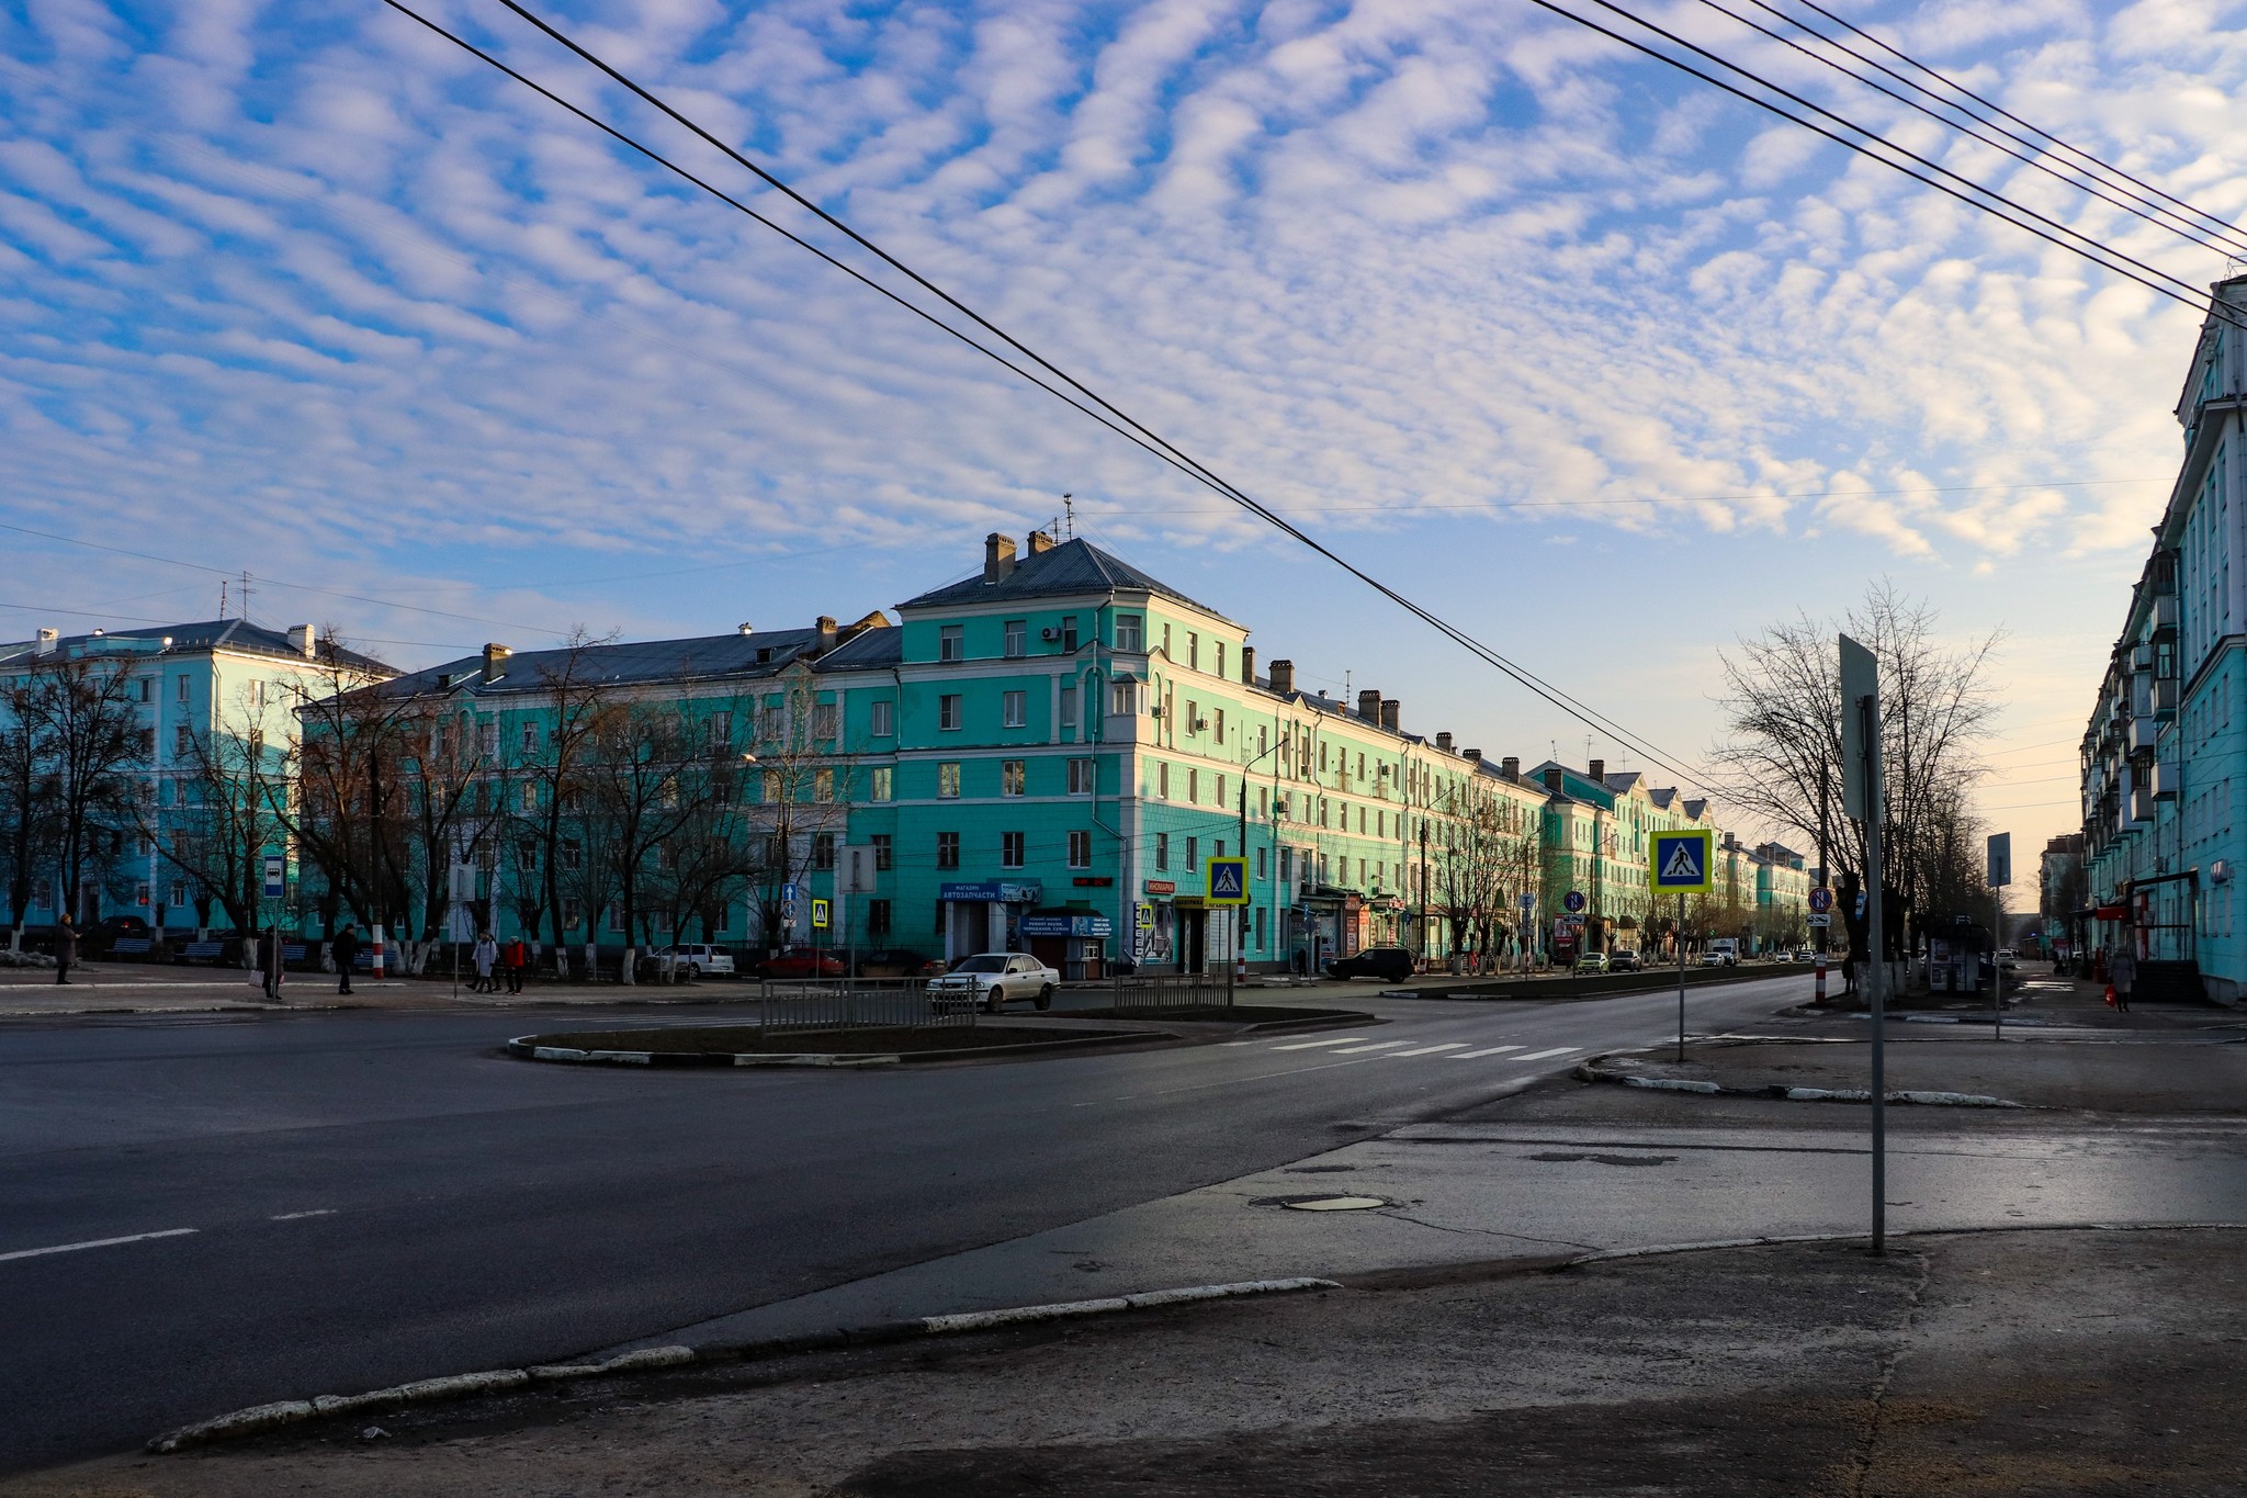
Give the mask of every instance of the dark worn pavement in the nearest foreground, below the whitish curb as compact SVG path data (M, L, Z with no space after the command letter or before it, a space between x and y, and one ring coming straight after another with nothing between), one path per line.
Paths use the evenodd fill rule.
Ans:
M1461 1267L357 1413L11 1498L2236 1494L2247 1233Z

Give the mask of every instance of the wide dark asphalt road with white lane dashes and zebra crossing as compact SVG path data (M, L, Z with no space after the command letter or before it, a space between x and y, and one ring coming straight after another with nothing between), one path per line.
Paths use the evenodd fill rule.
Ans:
M1694 1026L1802 988L1701 990ZM1447 1116L1676 1015L1667 995L1350 1002L1391 1020L1364 1051L843 1074L519 1062L497 1044L546 1022L526 1011L16 1022L0 1471L265 1399L562 1359L1115 1213Z

